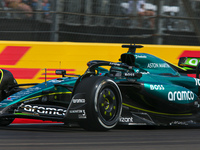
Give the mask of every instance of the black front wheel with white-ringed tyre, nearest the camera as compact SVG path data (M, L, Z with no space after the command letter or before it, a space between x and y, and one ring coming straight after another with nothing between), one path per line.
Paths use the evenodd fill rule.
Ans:
M118 123L122 111L122 96L117 84L108 77L92 76L84 78L74 94L85 93L86 116L79 122L89 131L106 131Z

